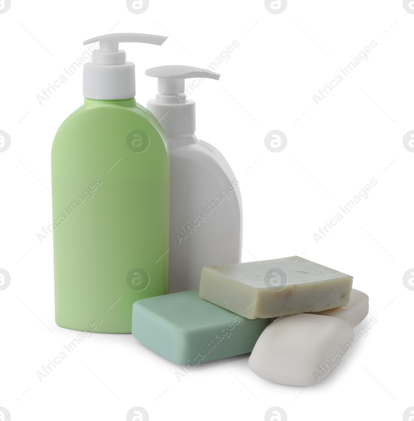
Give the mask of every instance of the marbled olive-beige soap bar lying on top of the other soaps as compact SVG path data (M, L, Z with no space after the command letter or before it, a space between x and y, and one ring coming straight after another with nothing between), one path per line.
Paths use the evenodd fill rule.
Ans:
M301 257L204 267L200 297L248 319L349 303L353 277Z

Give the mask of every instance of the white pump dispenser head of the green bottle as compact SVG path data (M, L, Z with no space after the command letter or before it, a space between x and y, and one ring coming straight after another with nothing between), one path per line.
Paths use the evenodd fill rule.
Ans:
M83 67L83 96L90 99L127 99L135 96L135 64L127 61L119 43L162 45L168 37L149 34L107 34L91 38L83 45L99 41L92 62Z

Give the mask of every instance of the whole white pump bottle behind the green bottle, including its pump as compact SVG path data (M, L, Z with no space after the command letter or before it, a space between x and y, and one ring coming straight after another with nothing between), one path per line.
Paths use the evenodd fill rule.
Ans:
M146 70L158 77L147 108L167 135L171 157L169 292L199 288L204 266L239 263L242 256L242 198L224 156L195 136L195 101L187 99L187 78L220 75L191 66Z

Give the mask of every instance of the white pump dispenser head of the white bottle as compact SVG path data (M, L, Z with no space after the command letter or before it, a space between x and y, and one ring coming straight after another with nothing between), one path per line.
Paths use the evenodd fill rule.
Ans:
M166 135L194 133L196 131L196 103L187 99L185 80L199 78L218 80L220 75L192 66L160 66L145 71L147 76L158 77L158 93L147 103L157 117ZM198 85L189 88L196 88ZM188 90L188 89L187 89Z

